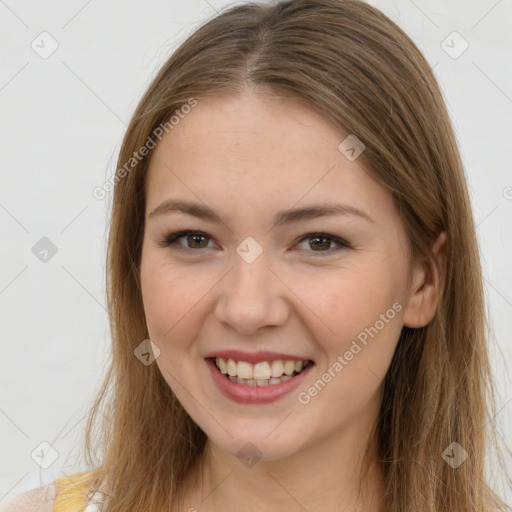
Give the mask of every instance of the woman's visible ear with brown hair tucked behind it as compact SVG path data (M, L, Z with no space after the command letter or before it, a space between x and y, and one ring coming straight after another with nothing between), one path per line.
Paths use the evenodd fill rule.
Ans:
M431 251L430 258L412 272L403 323L406 327L424 327L437 309L446 283L447 235L443 231Z

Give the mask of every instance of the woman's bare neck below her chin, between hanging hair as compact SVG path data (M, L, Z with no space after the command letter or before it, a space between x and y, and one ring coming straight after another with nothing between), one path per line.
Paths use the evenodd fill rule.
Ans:
M380 512L382 466L373 450L363 460L373 423L368 417L360 420L321 441L302 445L286 458L261 459L253 465L208 439L197 470L184 485L180 510Z

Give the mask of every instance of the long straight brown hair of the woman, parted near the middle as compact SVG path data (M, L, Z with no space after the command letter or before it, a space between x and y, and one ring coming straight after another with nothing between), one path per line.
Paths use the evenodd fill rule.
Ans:
M415 44L360 0L228 8L188 37L140 101L119 155L125 172L115 180L107 255L112 360L84 437L87 463L96 466L90 485L108 490L109 512L167 510L205 446L206 434L157 365L134 356L149 338L139 265L151 151L128 170L126 163L191 98L200 103L205 95L244 88L301 99L363 141L362 162L392 192L414 260L428 258L438 235L447 233L436 314L423 328L403 328L371 439L390 509L510 510L487 480L486 453L496 442L488 325L450 118ZM442 457L453 442L468 453L456 469Z

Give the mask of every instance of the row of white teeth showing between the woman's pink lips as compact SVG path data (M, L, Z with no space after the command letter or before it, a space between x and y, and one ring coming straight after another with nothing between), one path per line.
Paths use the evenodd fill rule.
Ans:
M247 361L235 361L224 357L207 359L226 380L249 387L276 386L294 379L315 364L312 360L275 359L251 364Z

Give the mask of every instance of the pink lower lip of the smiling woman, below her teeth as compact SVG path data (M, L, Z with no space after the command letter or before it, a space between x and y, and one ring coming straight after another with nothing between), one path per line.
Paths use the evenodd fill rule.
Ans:
M226 377L226 374L221 373L217 368L214 359L206 359L206 364L210 368L213 381L219 390L231 400L241 404L266 404L274 402L292 392L297 388L309 374L311 368L314 366L309 365L295 377L280 382L279 384L269 384L268 386L246 386L238 384Z

